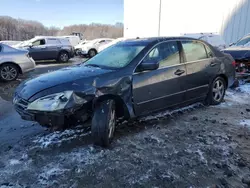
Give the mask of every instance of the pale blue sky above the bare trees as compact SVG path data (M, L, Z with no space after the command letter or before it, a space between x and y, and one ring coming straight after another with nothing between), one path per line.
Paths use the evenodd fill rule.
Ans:
M123 0L0 0L0 15L45 26L123 22Z

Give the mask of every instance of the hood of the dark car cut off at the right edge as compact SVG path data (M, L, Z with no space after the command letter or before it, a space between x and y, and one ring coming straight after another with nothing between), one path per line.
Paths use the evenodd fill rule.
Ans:
M250 47L230 47L222 50L224 53L229 53L234 59L250 58Z

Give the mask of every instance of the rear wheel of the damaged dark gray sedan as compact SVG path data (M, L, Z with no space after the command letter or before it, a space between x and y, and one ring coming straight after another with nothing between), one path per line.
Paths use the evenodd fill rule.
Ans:
M207 95L206 104L218 105L224 100L226 93L226 82L222 77L217 77L213 80L209 87L209 93Z

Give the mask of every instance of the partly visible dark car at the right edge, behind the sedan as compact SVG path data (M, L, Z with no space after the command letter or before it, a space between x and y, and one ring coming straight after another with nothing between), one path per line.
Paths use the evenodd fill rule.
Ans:
M222 51L235 59L237 72L250 73L250 34Z

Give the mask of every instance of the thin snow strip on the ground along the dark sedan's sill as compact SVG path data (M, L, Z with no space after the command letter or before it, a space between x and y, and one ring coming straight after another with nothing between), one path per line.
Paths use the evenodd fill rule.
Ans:
M140 120L148 121L148 120L153 120L153 119L159 119L159 118L162 118L162 117L167 116L167 115L171 116L171 115L173 115L175 113L178 113L178 112L185 112L185 111L194 110L195 108L197 108L199 106L201 106L201 103L196 103L196 104L186 106L186 107L183 107L183 108L179 108L179 109L176 109L176 110L173 110L173 111L167 110L165 112L161 112L161 113L158 113L158 114L155 114L155 115L150 115L150 116L141 118Z

